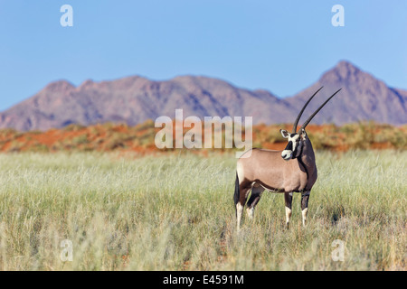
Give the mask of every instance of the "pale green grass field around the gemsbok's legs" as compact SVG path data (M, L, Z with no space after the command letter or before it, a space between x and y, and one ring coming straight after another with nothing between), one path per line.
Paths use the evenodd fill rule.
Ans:
M265 192L237 234L233 154L0 154L0 270L406 270L406 159L317 152L307 227Z

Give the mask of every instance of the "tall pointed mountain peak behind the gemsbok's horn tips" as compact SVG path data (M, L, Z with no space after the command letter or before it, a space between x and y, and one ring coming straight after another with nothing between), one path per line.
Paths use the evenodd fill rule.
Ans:
M360 120L374 120L396 126L407 123L407 92L389 88L382 80L375 79L373 75L346 61L340 61L308 89L285 100L300 109L321 86L324 89L309 103L301 119L305 120L325 99L342 88L312 120L314 123L343 125Z

